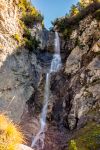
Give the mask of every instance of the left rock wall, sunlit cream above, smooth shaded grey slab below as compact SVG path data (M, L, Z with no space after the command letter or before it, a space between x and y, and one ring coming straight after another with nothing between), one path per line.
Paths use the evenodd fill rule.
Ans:
M36 55L14 38L23 35L19 18L18 1L0 1L0 111L17 122L41 76Z

